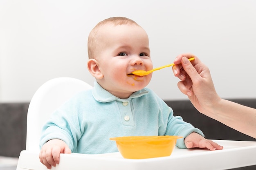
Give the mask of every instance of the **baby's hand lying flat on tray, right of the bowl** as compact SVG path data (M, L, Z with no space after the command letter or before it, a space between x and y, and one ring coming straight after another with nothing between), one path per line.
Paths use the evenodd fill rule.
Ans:
M221 150L223 146L218 145L217 143L205 139L196 132L192 132L189 136L184 139L184 143L187 148L203 148L209 150Z

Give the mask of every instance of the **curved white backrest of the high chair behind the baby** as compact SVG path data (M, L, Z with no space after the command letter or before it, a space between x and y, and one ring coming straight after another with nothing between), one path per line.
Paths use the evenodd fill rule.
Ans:
M89 84L71 77L54 78L40 86L28 108L26 150L39 151L41 130L53 111L76 93L90 88Z

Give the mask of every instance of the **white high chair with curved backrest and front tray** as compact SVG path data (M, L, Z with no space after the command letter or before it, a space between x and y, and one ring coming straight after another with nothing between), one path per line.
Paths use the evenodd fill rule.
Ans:
M20 152L17 170L47 170L38 157L43 124L72 95L90 88L81 80L62 77L49 80L36 91L28 109L26 150ZM224 146L224 149L175 148L169 157L150 159L124 159L119 152L60 154L60 163L52 170L224 170L256 165L255 141L213 141Z

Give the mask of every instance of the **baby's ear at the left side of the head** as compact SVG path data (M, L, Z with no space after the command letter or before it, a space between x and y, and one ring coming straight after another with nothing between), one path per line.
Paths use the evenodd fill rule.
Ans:
M99 62L95 59L89 59L87 62L87 68L91 75L96 79L102 79L104 76L101 73L101 69L99 67Z

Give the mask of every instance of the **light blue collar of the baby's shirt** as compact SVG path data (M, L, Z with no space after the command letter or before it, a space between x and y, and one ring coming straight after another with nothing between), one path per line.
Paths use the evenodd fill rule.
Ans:
M141 97L143 95L146 95L147 93L148 91L145 88L143 88L139 91L132 93L128 99ZM92 88L92 95L95 100L102 103L112 102L114 100L119 99L119 97L112 95L104 88L102 88L97 82L94 82L94 87Z

